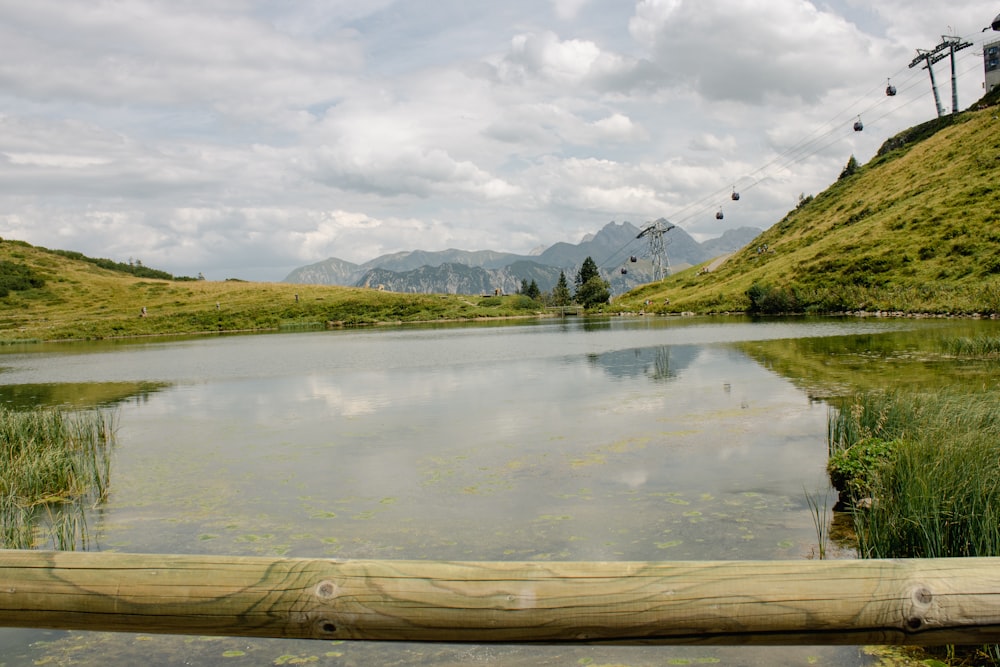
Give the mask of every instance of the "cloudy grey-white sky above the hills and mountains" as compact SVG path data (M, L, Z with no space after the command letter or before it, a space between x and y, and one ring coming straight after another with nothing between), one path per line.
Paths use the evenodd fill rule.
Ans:
M179 276L768 228L983 94L973 0L0 0L0 237ZM934 65L952 110L948 58ZM885 95L890 82L898 94ZM864 130L853 130L861 120ZM733 201L732 192L740 192ZM723 219L716 218L721 210ZM669 251L669 249L668 249Z

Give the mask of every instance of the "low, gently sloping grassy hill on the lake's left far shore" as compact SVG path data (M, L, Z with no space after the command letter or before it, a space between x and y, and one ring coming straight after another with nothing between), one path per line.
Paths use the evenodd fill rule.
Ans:
M138 273L127 264L0 240L0 343L461 320L541 310L516 296L481 300L326 285L210 282L172 279L145 267ZM140 317L143 308L146 315Z

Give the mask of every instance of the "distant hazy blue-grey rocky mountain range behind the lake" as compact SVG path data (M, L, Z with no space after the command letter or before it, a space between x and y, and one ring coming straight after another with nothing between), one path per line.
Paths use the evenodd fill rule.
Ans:
M540 290L547 292L555 287L560 271L565 272L572 286L583 260L591 257L611 283L612 292L620 294L653 280L649 247L644 239L636 238L640 231L629 222L609 222L580 243L560 242L532 255L493 250L413 250L382 255L364 264L331 257L295 269L284 282L426 294L492 294L498 289L511 294L520 289L522 280L534 280ZM743 248L761 231L740 227L699 243L680 227L674 227L665 237L667 260L672 270L700 264ZM633 256L635 262L631 261Z

